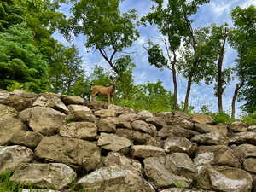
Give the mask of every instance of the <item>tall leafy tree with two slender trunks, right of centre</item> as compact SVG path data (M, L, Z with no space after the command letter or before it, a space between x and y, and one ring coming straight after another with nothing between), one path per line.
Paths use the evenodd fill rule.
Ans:
M190 39L194 53L197 52L195 34L192 28L192 20L189 19L189 16L195 14L199 6L201 4L208 3L209 0L194 0L189 2L185 0L168 1L166 8L163 8L163 0L152 1L157 5L153 6L153 12L148 13L148 15L144 16L141 21L144 25L146 21L148 21L150 24L157 25L159 27L160 33L166 37L165 46L169 62L161 59L160 61L163 61L163 63L160 63L160 65L156 64L155 66L169 67L172 70L172 81L174 84L175 97L174 106L177 109L177 50L180 48L183 39L188 38ZM195 61L193 68L195 69L197 65L198 61ZM194 74L194 71L191 71L189 74L187 93L184 102L185 110L188 109L189 106L189 93Z

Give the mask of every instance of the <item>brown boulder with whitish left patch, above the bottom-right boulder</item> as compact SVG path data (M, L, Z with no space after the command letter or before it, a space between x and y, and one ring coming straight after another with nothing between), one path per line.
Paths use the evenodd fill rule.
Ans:
M212 160L206 160L206 157L211 155ZM241 166L233 150L226 145L200 146L195 157L195 165L201 166L206 163L217 166Z

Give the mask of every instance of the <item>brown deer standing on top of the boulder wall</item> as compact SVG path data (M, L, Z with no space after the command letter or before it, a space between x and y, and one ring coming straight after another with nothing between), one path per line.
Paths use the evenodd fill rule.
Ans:
M94 98L96 98L97 96L108 96L108 103L110 103L110 100L113 103L115 84L117 83L117 80L113 79L112 76L110 76L110 79L112 81L111 86L108 86L108 87L101 86L101 85L91 86L90 102L94 101Z

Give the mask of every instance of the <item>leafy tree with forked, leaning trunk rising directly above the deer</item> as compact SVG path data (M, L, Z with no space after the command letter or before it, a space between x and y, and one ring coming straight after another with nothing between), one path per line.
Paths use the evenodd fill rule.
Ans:
M120 76L114 57L138 38L138 32L131 20L137 18L136 11L120 14L120 0L72 1L73 16L69 30L74 35L87 37L86 49L97 49L113 71ZM65 31L65 30L64 30ZM64 32L65 33L65 32Z

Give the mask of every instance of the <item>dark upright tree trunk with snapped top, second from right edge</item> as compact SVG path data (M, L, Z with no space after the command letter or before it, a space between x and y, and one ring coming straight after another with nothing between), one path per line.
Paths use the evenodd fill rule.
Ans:
M227 28L225 28L224 32L224 41L221 46L221 49L219 51L218 55L218 76L217 76L217 97L218 97L218 113L223 113L223 102L222 102L222 96L224 92L224 77L223 77L223 71L222 71L222 66L223 66L223 60L224 60L224 50L225 50L225 44L227 40Z

